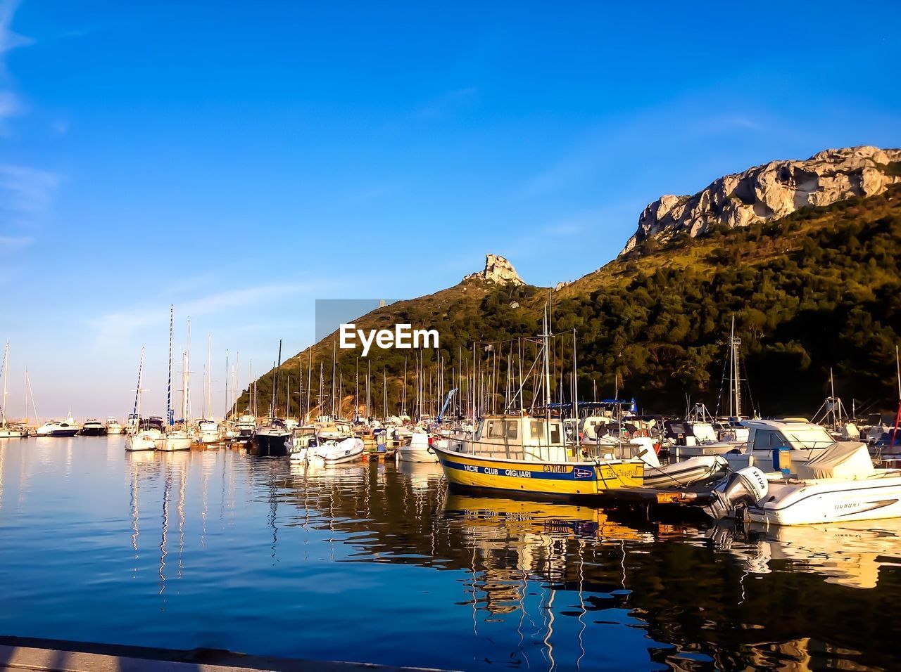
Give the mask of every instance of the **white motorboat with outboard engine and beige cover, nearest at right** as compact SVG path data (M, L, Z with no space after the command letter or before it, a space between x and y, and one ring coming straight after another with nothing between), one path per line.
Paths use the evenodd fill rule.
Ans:
M782 473L757 467L733 472L705 507L715 519L805 525L901 516L901 470L875 469L864 444L839 442L792 465L780 451Z

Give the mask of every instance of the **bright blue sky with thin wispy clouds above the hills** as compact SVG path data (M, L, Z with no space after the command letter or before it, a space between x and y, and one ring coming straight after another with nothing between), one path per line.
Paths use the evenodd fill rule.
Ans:
M898 147L899 48L894 2L0 0L10 412L27 363L41 416L122 416L141 345L162 408L169 303L192 384L207 333L246 381L309 345L315 299L487 252L572 280L663 193Z

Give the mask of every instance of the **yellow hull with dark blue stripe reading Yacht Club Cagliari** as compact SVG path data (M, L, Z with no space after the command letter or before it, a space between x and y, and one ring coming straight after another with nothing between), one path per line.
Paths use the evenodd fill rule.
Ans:
M535 462L481 457L433 446L453 486L547 497L592 497L641 488L642 462Z

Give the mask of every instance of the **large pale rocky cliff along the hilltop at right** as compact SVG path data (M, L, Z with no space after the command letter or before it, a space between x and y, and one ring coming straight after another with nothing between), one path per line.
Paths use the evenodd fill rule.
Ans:
M648 238L695 237L719 224L746 227L806 205L883 193L889 184L901 183L901 175L891 175L898 171L889 169L898 161L901 149L826 149L806 161L771 161L725 175L694 196L661 196L644 209L621 254Z

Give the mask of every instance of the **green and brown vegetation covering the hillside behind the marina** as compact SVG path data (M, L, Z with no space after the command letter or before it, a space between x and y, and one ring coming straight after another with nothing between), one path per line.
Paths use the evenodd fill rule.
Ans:
M846 404L857 399L859 408L866 402L874 409L894 408L901 185L881 196L806 208L766 224L665 245L649 242L641 253L625 255L553 292L554 331L576 329L578 335L582 399L591 399L595 390L599 398L611 396L618 383L621 397L634 396L649 410L679 412L687 395L713 409L734 316L752 399L765 415L815 411L830 368ZM547 296L547 290L535 287L468 281L375 310L357 323L360 328L398 322L437 328L441 360L450 375L460 353L464 366L471 366L467 360L474 341L537 334ZM563 359L570 356L558 347ZM405 353L412 367L412 351L370 354L378 410L386 374L389 410L396 410ZM483 358L484 349L477 354ZM434 367L438 353L423 356ZM560 370L566 372L563 359ZM314 389L320 362L328 389L331 338L314 347ZM360 362L365 372L365 361ZM283 371L296 380L301 365L305 368L306 354ZM343 390L350 394L355 365L353 351L339 350ZM499 368L503 371L503 363ZM413 389L411 373L408 399ZM260 410L268 408L268 390L271 372L259 381ZM245 395L239 406L246 404Z

